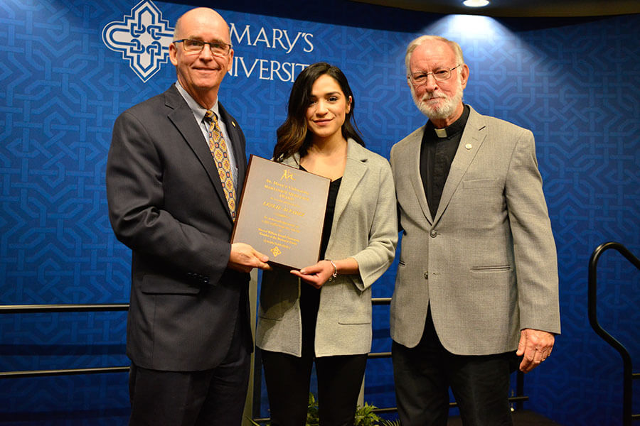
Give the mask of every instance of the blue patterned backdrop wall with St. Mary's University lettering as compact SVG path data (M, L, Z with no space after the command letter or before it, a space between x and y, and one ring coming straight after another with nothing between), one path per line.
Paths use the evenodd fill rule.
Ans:
M292 77L318 60L346 73L368 147L388 156L425 121L406 86L405 45L421 33L459 41L471 68L465 101L535 134L558 245L562 335L526 376L526 407L562 425L619 424L622 364L588 324L587 262L610 240L640 256L640 16L497 21L342 0L324 12L248 4L215 6L235 45L220 99L240 120L248 153L265 157ZM105 197L112 124L175 81L161 40L190 8L0 0L1 305L128 301L129 251L114 239ZM127 44L123 28L136 20L152 30ZM637 371L640 273L612 251L600 271L600 320ZM394 273L375 297L391 295ZM373 351L388 351L388 308L374 316ZM0 371L126 365L125 326L123 312L0 315ZM124 373L4 379L0 423L124 424L126 383ZM388 359L368 364L365 400L395 405Z

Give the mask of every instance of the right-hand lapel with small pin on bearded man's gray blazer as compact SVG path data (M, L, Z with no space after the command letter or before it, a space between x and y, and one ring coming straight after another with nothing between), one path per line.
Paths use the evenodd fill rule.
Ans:
M440 217L442 217L444 210L447 209L454 192L456 192L458 185L462 182L464 173L466 173L471 161L474 160L476 153L478 153L480 146L484 142L484 138L486 138L484 119L471 108L469 119L466 121L466 126L462 132L462 138L460 139L456 155L451 163L447 182L444 183L444 188L442 189L442 197L440 197L440 204L438 205L434 222L437 222Z

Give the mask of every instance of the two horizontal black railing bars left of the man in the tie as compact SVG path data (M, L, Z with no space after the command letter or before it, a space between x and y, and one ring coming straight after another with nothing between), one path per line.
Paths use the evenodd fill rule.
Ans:
M128 303L93 303L85 305L3 305L0 314L35 314L48 312L113 312L129 310ZM123 373L129 366L67 368L60 370L0 371L1 378L68 376L73 374Z

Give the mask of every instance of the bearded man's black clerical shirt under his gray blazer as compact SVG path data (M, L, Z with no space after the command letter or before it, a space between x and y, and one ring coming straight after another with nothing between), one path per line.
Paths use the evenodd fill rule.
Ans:
M432 218L438 211L444 182L447 182L451 163L462 139L462 131L467 119L469 119L469 105L464 105L462 116L450 126L438 129L436 132L433 123L428 121L425 133L422 135L420 177Z

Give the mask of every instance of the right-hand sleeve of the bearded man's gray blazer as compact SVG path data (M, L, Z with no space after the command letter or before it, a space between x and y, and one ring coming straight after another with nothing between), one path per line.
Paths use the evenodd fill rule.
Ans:
M518 134L505 196L513 236L521 329L560 333L558 259L533 133Z

